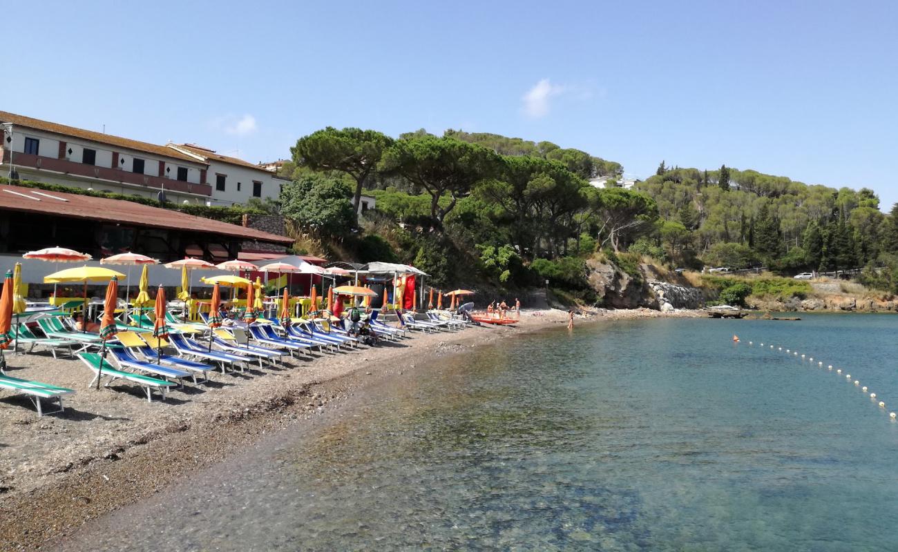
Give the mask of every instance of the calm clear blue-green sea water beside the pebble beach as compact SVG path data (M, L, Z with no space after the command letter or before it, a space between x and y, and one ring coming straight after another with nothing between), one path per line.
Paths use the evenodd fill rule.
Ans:
M898 549L898 424L825 368L898 410L896 329L635 320L508 340L406 372L66 549Z

